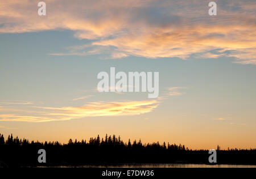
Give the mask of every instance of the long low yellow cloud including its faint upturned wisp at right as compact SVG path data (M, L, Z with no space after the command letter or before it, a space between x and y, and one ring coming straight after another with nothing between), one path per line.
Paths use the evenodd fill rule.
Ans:
M127 86L128 87L128 86ZM3 105L0 108L0 121L48 122L63 121L98 116L134 116L152 112L164 99L170 96L183 95L180 90L185 87L170 87L163 96L156 100L134 101L95 101L82 106L35 106L35 105ZM97 92L86 90L83 92ZM86 95L73 99L82 100L94 95ZM31 102L31 104L33 104ZM147 119L147 118L146 118Z

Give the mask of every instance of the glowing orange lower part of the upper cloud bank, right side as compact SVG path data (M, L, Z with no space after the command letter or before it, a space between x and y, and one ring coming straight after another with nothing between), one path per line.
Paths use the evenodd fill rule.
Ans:
M119 51L132 56L147 58L179 57L188 59L191 54L201 54L201 58L236 57L238 61L251 62L256 56L256 26L235 27L216 25L164 27L157 31L144 32L141 36L122 36L111 40L93 42L97 46L115 46ZM246 35L249 32L249 35ZM222 49L220 54L210 50ZM229 53L225 53L229 51Z

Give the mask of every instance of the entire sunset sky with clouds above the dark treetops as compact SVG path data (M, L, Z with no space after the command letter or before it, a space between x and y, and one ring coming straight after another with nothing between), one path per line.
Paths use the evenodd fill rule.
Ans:
M5 137L256 148L254 0L38 2L0 2ZM98 92L110 67L159 72L159 97Z

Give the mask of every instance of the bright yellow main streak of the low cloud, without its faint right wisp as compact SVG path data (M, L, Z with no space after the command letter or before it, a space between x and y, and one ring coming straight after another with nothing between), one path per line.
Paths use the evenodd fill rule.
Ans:
M99 101L85 104L83 106L46 107L34 106L34 111L16 113L3 110L0 121L24 121L24 122L47 122L71 120L84 117L96 116L133 116L151 112L159 105L157 100L148 101ZM38 112L36 109L39 109Z

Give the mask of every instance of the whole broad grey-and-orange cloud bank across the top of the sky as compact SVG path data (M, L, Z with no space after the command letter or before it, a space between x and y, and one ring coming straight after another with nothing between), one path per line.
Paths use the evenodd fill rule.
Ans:
M255 1L217 1L217 16L207 1L47 1L38 16L32 1L0 2L0 33L68 29L92 42L55 56L104 54L102 58L232 57L256 64ZM218 54L212 50L221 49Z

